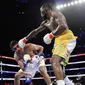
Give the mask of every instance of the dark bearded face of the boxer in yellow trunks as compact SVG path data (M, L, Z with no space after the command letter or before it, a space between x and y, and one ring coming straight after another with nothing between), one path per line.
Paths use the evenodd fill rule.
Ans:
M48 10L47 8L40 8L40 12L41 12L41 17L44 19L44 20L47 20L47 19L50 19L51 17L51 11Z

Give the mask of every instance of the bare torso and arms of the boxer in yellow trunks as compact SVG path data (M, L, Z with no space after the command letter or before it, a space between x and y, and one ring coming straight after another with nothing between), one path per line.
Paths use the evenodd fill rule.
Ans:
M47 9L46 9L47 10ZM41 13L44 11L42 8L40 9ZM55 37L59 36L64 30L69 29L67 25L66 18L64 15L59 12L58 10L53 10L48 17L48 19L42 21L40 26L34 30L32 30L27 36L26 39L29 40L30 38L37 35L39 32L49 29Z

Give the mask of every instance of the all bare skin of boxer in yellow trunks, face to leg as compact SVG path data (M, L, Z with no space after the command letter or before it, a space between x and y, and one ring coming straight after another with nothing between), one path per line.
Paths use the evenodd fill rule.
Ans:
M45 29L49 29L55 38L61 35L61 33L63 33L65 30L69 29L66 18L60 11L41 7L40 12L44 21L42 21L38 28L32 30L26 36L27 40L33 38L35 35L37 35L39 32ZM64 74L60 64L61 59L61 56L52 55L52 67L54 70L56 80L62 80L62 82L64 83Z

